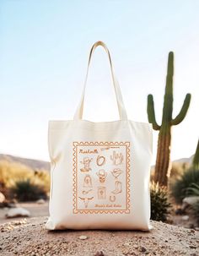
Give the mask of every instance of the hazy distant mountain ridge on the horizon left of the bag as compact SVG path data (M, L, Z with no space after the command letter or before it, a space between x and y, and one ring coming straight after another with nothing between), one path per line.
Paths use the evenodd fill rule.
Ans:
M0 161L1 160L6 160L10 162L12 161L19 162L24 166L29 166L33 170L45 169L47 171L50 171L50 162L48 161L40 161L40 160L22 158L22 157L13 156L13 155L0 154Z

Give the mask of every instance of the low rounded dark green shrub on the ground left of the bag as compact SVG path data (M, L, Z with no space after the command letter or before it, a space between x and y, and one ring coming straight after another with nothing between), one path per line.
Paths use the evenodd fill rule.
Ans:
M40 185L30 181L30 179L19 180L10 188L13 198L19 201L35 201L37 199L46 199L46 191Z

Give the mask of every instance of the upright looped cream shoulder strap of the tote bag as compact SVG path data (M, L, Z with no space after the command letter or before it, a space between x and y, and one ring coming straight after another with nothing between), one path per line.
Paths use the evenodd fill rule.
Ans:
M82 117L83 117L83 101L84 101L86 83L87 83L87 79L88 79L88 75L89 75L89 65L90 65L91 57L94 53L94 49L97 46L102 46L105 49L105 52L107 52L107 54L108 54L109 61L110 61L111 77L112 77L112 81L113 81L113 85L114 85L114 89L115 89L115 93L116 93L116 101L117 101L118 111L119 111L119 114L120 114L120 119L121 120L127 120L126 109L125 109L125 106L124 106L124 103L123 103L123 100L122 100L120 86L119 86L119 84L116 80L116 76L114 74L112 61L111 61L111 57L110 57L110 52L109 52L109 49L107 48L107 46L105 45L105 43L103 41L95 42L94 45L92 46L91 50L90 50L89 63L88 63L88 67L87 67L86 78L85 78L84 85L83 85L83 93L82 93L80 103L78 104L78 108L75 112L75 115L74 115L73 119L78 120L78 119L82 119Z

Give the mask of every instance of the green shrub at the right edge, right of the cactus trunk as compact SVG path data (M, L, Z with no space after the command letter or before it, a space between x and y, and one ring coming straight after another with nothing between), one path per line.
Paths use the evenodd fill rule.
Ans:
M171 184L171 194L177 204L181 204L186 196L190 196L188 188L193 183L199 184L199 170L191 167L182 176Z

